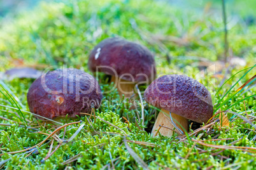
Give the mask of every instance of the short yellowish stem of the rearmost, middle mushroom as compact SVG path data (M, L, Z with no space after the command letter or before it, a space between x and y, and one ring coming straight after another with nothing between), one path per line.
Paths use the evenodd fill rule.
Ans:
M121 98L122 95L124 95L125 98L130 98L133 95L135 82L125 81L117 76L111 76L111 82L114 82L116 85Z

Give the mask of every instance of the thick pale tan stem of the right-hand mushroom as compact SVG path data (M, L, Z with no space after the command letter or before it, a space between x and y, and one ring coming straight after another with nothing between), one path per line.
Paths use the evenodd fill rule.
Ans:
M166 115L163 112L165 112ZM160 128L159 125L165 126L167 128L170 128L170 129L174 129L175 128L175 126L171 122L171 118L169 116L167 116L167 115L169 115L169 111L167 111L167 110L162 108L161 111L159 112L159 115L157 116L157 120L155 121L155 124L153 125L153 129L152 129L152 136L153 137L155 137L155 134L157 133L157 130ZM173 119L175 119L177 122L179 122L181 124L181 126L183 126L183 128L186 131L188 131L188 119L186 119L184 117L181 117L180 115L173 114L173 113L171 113L171 117ZM176 126L179 129L181 129L181 131L183 131L183 133L185 133L185 131L183 130L183 128L180 127L180 125L178 125L176 122L175 122L175 124L176 124ZM167 137L173 136L173 131L170 130L170 129L167 129L167 128L163 128L163 127L160 128L159 133L162 136L167 136ZM175 128L174 131L176 131L177 133L180 133L180 131L178 129L176 129L176 128Z

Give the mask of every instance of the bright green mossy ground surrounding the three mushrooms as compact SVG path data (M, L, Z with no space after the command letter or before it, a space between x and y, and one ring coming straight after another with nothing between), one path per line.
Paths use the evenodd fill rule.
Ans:
M243 15L245 10L241 17ZM52 141L52 151L59 145L53 138L38 147L35 154L6 153L33 147L46 138L47 135L41 133L50 134L57 127L38 122L26 112L21 114L19 110L1 106L0 154L3 156L0 161L8 161L1 164L0 169L142 169L140 159L149 169L255 169L255 79L238 93L236 89L255 75L255 68L247 74L249 69L246 68L255 64L256 25L246 25L243 19L231 24L229 55L243 58L246 65L227 63L222 69L217 68L216 72L208 66L223 60L224 32L221 18L221 13L211 8L195 12L162 1L144 0L40 3L34 10L20 13L12 20L2 18L2 72L20 66L43 70L51 65L67 65L89 72L88 56L99 41L106 37L125 37L147 46L154 53L158 76L185 74L197 78L212 94L214 114L228 108L225 115L230 123L229 127L222 127L222 121L215 119L216 122L210 122L211 126L203 126L197 133L193 132L200 126L193 125L189 132L192 135L188 138L178 134L171 138L152 138L148 132L158 111L144 103L143 127L138 119L138 114L141 117L141 107L138 110L127 109L129 104L122 101L115 90L104 95L101 108L96 110L99 118L114 126L101 119L89 124L86 117L71 121L82 120L67 126L66 130L60 129L57 133L60 139L68 140L82 124L85 126L73 140L57 148L53 155L41 162L51 150ZM169 63L167 56L170 58ZM221 87L232 75L234 77ZM1 82L1 105L29 111L26 94L32 81L13 79ZM13 95L8 95L3 84L10 88L19 101L11 99ZM113 84L105 81L100 81L100 84L103 91L113 87ZM141 91L145 89L143 86L140 88ZM215 115L216 118L218 116ZM129 129L122 117L129 120ZM34 129L24 128L25 122L31 123L29 126ZM143 128L146 131L142 131ZM128 135L126 141L125 133ZM78 159L65 162L76 155ZM136 156L140 159L134 159Z

